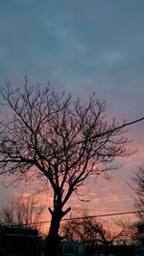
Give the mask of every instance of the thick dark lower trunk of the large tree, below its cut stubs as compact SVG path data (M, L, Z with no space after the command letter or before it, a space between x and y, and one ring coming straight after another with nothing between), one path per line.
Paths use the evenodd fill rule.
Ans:
M58 246L60 243L59 228L60 228L60 214L52 213L51 226L49 234L46 238L45 256L56 256Z

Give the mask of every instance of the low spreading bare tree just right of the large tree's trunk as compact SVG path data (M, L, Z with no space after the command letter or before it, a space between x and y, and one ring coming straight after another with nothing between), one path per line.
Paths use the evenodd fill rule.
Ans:
M93 218L89 212L81 211L71 216L61 225L61 236L65 240L81 241L89 245L89 253L93 255L99 245L105 248L105 255L109 255L113 242L122 242L127 237L127 225L122 221L110 221Z

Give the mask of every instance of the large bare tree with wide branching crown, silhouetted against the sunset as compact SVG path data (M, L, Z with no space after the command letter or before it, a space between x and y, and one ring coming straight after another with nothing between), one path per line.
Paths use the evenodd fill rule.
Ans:
M60 220L70 211L65 206L73 192L79 195L92 176L108 179L115 157L131 155L127 123L108 121L106 102L95 94L83 102L49 86L29 87L26 79L22 91L9 84L1 95L11 110L0 123L1 174L12 175L12 182L45 177L53 190L48 255L60 242Z

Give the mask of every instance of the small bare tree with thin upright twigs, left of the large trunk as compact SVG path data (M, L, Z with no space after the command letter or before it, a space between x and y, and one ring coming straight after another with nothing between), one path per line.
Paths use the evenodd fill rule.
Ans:
M16 226L18 228L37 229L41 232L45 206L39 204L36 195L19 194L17 197L3 205L0 210L1 224L6 226Z

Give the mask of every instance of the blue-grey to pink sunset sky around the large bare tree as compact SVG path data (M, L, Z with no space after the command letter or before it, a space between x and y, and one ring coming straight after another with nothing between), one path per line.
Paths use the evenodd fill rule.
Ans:
M144 116L143 0L0 0L0 86L50 82L82 98L97 92L109 117L132 121ZM132 172L143 164L144 123L128 136L136 153L119 159L112 180L91 182L88 203L74 195L69 205L91 213L133 211ZM34 185L5 188L1 202ZM42 195L47 200L47 195ZM46 199L45 199L46 198ZM51 198L48 199L51 201Z

